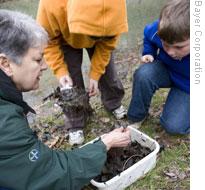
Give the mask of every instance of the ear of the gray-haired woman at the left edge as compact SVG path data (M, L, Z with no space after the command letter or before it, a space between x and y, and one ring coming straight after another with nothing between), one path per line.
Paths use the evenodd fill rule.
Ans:
M12 68L11 68L11 63L8 60L8 58L6 57L5 54L0 53L0 69L6 73L6 75L8 75L9 77L12 76L13 72L12 72Z

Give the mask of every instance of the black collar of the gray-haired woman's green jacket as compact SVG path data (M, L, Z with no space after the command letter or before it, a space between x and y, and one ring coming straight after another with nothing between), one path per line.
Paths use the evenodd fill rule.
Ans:
M35 111L23 101L22 93L16 88L14 82L0 69L0 97L21 106L24 114Z

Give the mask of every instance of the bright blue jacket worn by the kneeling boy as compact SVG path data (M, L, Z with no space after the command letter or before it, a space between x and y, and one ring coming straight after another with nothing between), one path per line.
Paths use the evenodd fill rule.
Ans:
M159 21L149 24L144 29L143 55L153 55L162 61L169 70L170 79L177 88L190 93L190 54L182 60L175 60L163 49L161 40L157 35Z

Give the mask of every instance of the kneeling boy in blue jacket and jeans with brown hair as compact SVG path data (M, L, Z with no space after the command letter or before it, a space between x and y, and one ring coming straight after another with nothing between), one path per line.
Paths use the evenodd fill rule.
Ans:
M153 94L170 88L160 123L171 134L190 130L190 6L171 0L158 21L144 29L144 63L135 71L128 119L139 127L148 114Z

